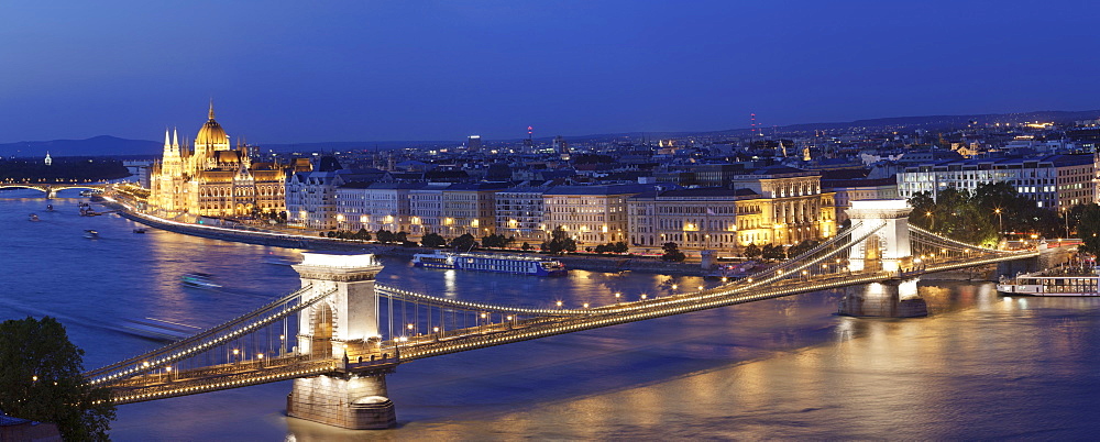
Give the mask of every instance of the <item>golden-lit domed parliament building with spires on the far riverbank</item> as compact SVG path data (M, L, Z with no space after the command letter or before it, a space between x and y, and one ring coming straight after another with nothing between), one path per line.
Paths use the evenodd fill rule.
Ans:
M169 139L170 135L170 139ZM246 217L284 209L286 174L278 164L253 162L249 146L230 146L229 135L209 119L191 146L164 132L164 152L153 165L148 203L169 216Z

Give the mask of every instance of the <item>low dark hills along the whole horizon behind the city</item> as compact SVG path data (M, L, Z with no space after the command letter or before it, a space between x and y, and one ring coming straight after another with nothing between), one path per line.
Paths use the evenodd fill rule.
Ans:
M930 132L949 131L965 128L970 121L978 124L1014 123L1023 121L1053 121L1055 123L1072 123L1078 120L1096 120L1100 110L1088 111L1034 111L1015 113L982 113L971 115L924 115L924 117L891 117L869 120L833 123L802 123L778 128L765 128L765 131L780 133L812 132L814 130L844 130L848 128L865 128L870 130L904 128L904 130L924 129ZM749 134L749 128L726 129L710 132L623 132L593 135L566 136L569 141L590 140L649 140L682 137L682 136L744 136ZM520 142L522 139L488 140L493 142ZM549 142L550 137L540 137L540 142ZM262 150L277 152L318 152L318 151L387 151L402 147L457 146L464 140L452 141L363 141L363 142L311 142L293 144L261 144ZM94 136L87 140L54 140L25 141L18 143L0 143L0 156L36 157L45 156L48 151L52 156L129 156L161 154L161 142L145 140L125 140L110 135Z

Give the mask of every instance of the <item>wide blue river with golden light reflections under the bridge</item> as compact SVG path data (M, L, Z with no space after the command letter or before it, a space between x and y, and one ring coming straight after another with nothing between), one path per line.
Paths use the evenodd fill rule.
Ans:
M266 255L297 251L78 216L82 199L0 192L0 320L53 316L95 368L152 349L125 319L198 327L298 286ZM46 212L47 203L55 211ZM31 222L29 213L41 221ZM85 229L100 239L82 237ZM660 296L698 278L573 270L565 278L411 268L380 279L465 300L550 306ZM205 272L220 291L183 287ZM285 416L289 383L119 407L117 440L1092 439L1100 299L1001 298L925 283L930 318L835 316L810 294L440 356L388 376L399 427L351 432Z

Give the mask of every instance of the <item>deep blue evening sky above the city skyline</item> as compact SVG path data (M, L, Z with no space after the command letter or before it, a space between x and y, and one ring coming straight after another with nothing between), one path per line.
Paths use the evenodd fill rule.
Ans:
M255 143L1100 108L1090 1L309 3L0 2L0 142L194 136L211 97Z

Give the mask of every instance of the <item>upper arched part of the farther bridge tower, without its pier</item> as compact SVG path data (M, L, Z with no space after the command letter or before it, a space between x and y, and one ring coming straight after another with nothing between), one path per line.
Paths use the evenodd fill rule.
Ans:
M909 243L909 213L912 207L903 199L871 199L851 201L848 218L853 223L862 222L853 237L866 235L878 229L851 247L848 267L851 272L882 269L898 272L913 265L913 254ZM881 229L881 225L886 222Z

